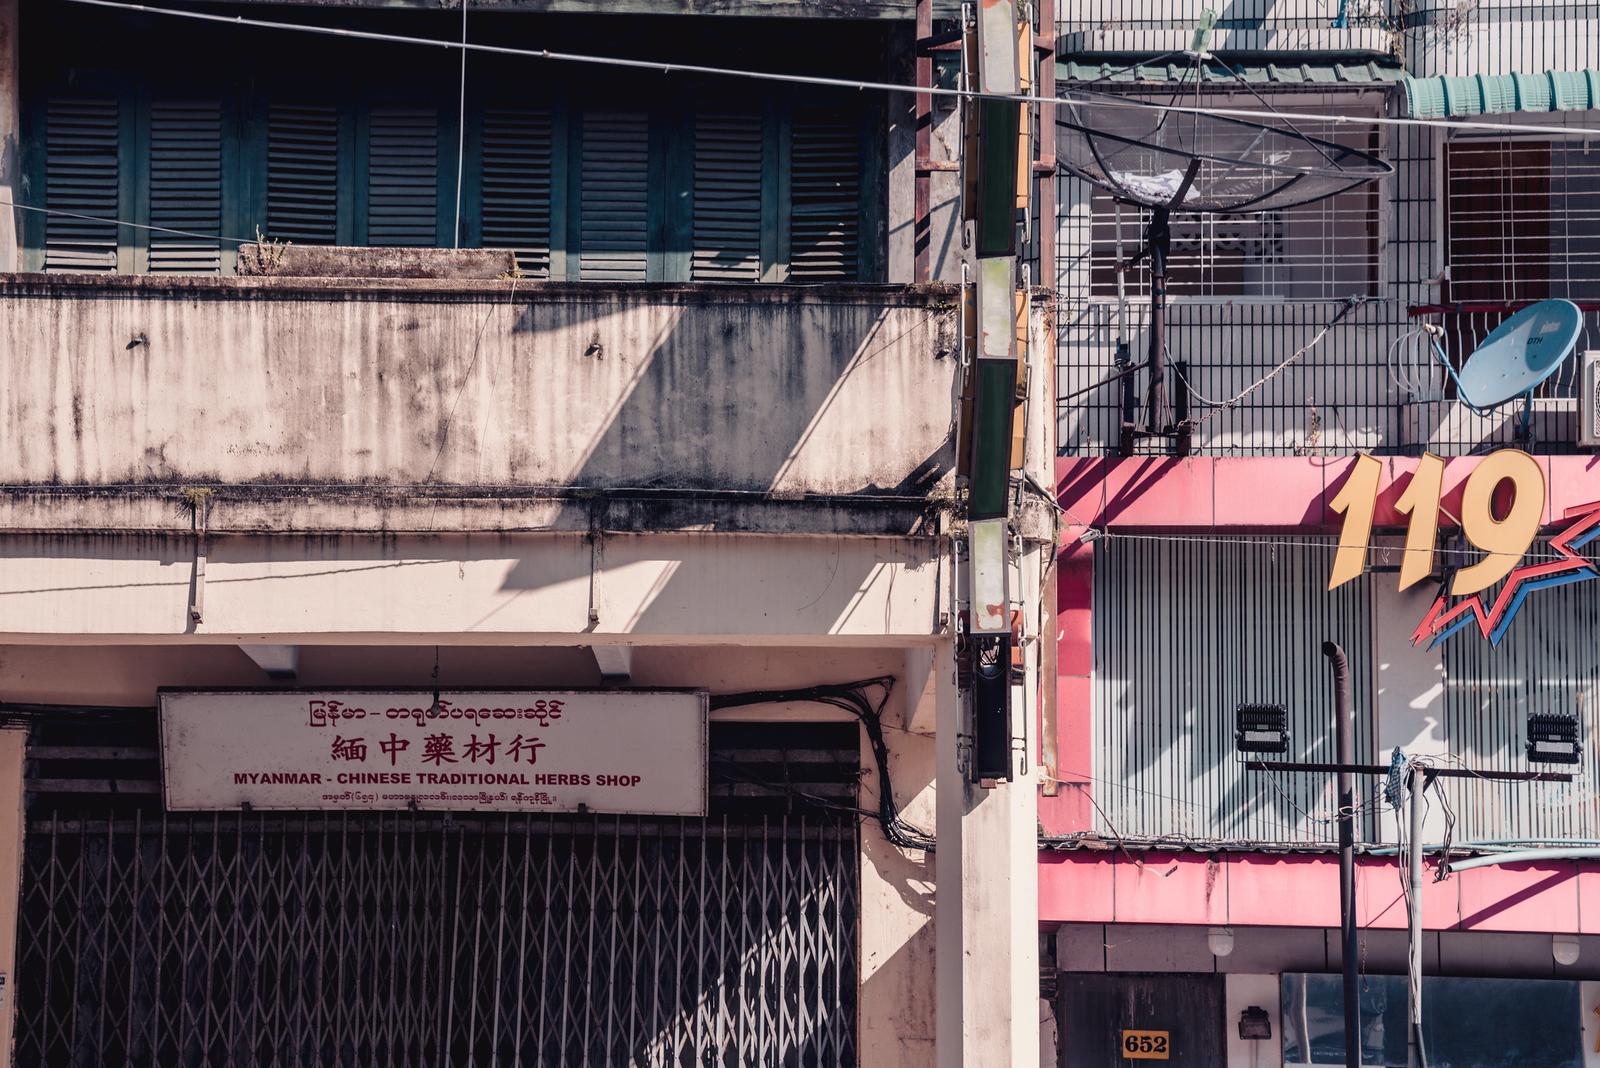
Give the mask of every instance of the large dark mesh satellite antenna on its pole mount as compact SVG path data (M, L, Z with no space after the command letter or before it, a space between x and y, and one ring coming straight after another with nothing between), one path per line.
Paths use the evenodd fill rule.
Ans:
M1058 147L1072 174L1099 185L1123 203L1150 213L1144 248L1118 270L1149 259L1150 337L1149 389L1142 422L1125 422L1122 449L1138 438L1178 438L1187 449L1190 425L1173 420L1166 398L1166 264L1171 254L1173 214L1243 214L1293 208L1342 193L1389 174L1394 168L1374 155L1302 134L1285 115L1282 126L1202 114L1205 86L1221 70L1218 85L1235 86L1272 109L1242 74L1206 51L1213 13L1195 30L1192 46L1138 66L1184 59L1171 104L1198 109L1174 112L1126 98L1080 93L1058 109L1056 125L1070 130ZM1112 75L1106 75L1112 77ZM1130 368L1138 371L1139 368ZM1125 373L1125 374L1126 374Z

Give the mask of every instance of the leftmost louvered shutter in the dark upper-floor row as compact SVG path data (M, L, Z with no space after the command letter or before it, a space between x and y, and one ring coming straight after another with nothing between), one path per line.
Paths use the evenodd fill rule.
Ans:
M118 134L114 99L45 104L45 270L117 270Z

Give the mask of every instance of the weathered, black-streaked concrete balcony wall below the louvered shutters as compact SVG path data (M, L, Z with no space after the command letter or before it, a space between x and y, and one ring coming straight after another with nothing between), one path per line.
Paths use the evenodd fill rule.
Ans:
M922 496L942 289L0 278L0 483Z

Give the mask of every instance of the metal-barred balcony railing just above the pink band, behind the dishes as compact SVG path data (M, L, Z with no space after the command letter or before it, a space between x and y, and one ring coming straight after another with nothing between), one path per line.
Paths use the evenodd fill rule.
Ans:
M1378 452L1462 456L1518 443L1522 406L1474 416L1448 392L1419 323L1445 328L1446 350L1470 353L1518 305L1411 309L1371 301L1320 341L1331 302L1176 304L1168 310L1170 392L1179 416L1197 424L1194 451L1210 456L1339 456ZM1534 397L1523 448L1573 452L1578 444L1578 361L1600 347L1600 305L1584 304L1586 331L1574 353ZM1146 379L1114 379L1144 360L1147 310L1118 313L1086 302L1059 315L1058 443L1066 456L1115 454L1123 382L1142 400ZM1118 339L1125 358L1118 363ZM1307 347L1309 345L1309 347ZM1291 357L1306 349L1299 358ZM1141 451L1166 451L1141 443Z

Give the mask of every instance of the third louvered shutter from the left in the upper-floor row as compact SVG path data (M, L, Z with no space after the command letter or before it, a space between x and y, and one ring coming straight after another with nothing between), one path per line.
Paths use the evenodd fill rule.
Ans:
M339 240L339 112L274 104L267 112L267 237L299 245Z

